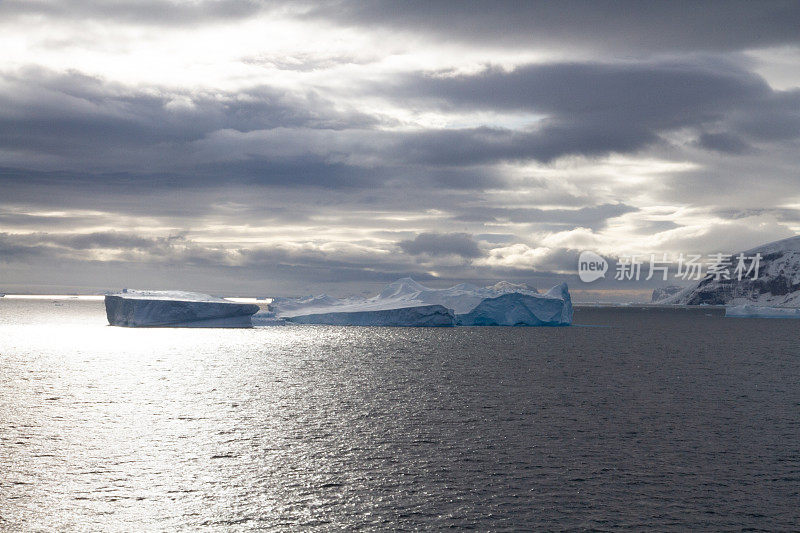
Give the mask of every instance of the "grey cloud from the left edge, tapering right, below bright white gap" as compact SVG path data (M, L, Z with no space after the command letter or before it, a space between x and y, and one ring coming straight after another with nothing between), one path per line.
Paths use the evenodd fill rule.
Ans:
M374 119L335 111L308 91L252 87L231 94L134 90L79 73L3 76L0 146L97 157L104 148L188 143L224 129L342 129Z

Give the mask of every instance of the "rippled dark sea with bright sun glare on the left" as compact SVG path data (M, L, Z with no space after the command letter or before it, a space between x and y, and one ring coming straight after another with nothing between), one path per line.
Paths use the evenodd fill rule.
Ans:
M0 529L797 530L800 322L124 329L0 299Z

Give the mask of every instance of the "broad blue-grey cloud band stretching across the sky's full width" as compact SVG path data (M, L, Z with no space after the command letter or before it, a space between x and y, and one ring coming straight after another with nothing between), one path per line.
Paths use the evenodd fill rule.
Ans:
M498 162L630 153L664 132L708 124L723 131L705 134L701 146L731 151L740 136L743 143L748 136L786 138L798 118L795 95L718 60L529 65L456 78L407 76L372 88L435 107L544 114L522 130L382 131L373 117L269 87L158 94L43 71L6 80L0 148L24 151L30 165L46 165L41 156L64 158L60 173L48 174L51 183L128 190L230 183L481 190L505 185L492 168ZM762 104L782 117L778 131L759 116Z

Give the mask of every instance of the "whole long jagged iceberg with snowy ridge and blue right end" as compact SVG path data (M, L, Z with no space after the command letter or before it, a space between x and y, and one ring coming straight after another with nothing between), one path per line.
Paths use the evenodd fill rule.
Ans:
M565 283L541 295L527 285L508 282L431 289L402 278L371 298L336 299L324 294L275 298L270 311L295 324L543 326L572 322L572 301Z

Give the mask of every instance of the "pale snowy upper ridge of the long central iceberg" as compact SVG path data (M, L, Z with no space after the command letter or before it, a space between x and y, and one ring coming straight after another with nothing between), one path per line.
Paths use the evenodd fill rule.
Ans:
M461 283L448 289L431 289L411 278L401 278L384 287L372 298L354 297L337 300L324 294L303 298L275 298L270 304L270 309L279 316L292 317L330 312L380 311L441 305L452 309L455 314L465 314L472 311L486 298L496 298L510 293L538 295L536 289L509 282L500 282L491 287Z

